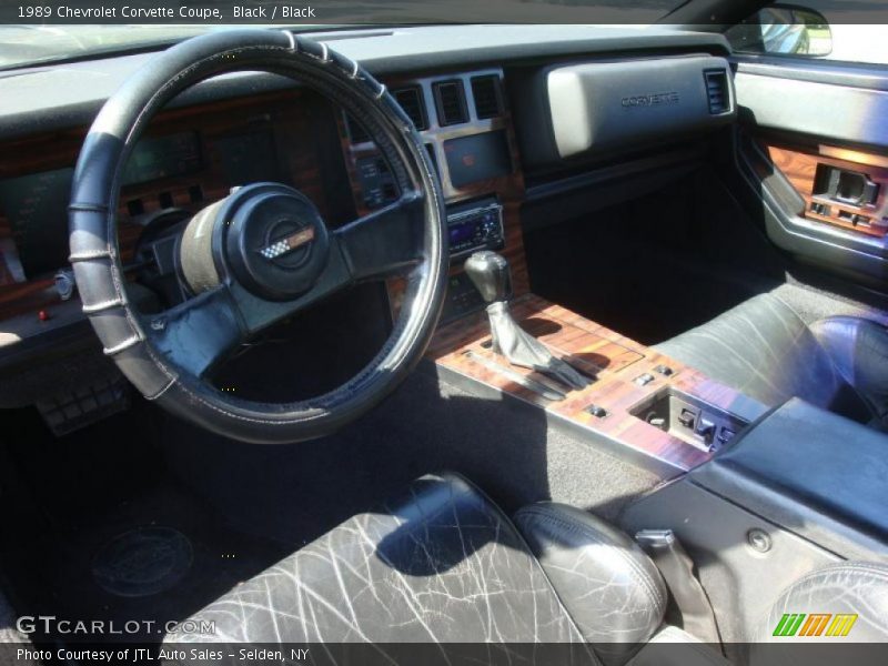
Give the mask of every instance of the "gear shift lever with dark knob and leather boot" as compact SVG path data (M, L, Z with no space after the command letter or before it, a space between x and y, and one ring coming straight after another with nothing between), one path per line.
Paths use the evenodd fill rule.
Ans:
M488 303L493 351L509 363L542 372L572 389L584 389L589 380L568 363L556 359L546 345L522 329L508 311L512 273L506 259L487 250L475 252L465 262L465 272Z

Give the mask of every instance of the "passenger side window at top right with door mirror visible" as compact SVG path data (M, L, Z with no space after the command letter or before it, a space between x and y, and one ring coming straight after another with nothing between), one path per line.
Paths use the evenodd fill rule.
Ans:
M888 64L881 2L774 3L725 32L737 53Z

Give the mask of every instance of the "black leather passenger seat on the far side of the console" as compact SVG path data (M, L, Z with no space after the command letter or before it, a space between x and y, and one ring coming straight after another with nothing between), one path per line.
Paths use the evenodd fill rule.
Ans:
M761 294L656 349L766 405L797 396L888 426L888 332L876 322L830 316L809 325Z

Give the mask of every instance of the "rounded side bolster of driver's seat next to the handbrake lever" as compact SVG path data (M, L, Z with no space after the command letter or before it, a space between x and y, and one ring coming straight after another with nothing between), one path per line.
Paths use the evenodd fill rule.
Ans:
M585 511L552 502L522 508L515 524L583 637L605 662L624 663L659 628L666 586L626 534Z

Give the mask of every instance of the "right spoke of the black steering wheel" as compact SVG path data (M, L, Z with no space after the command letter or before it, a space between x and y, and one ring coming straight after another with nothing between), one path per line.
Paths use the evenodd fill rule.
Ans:
M424 203L410 191L334 233L352 281L403 275L423 260Z

